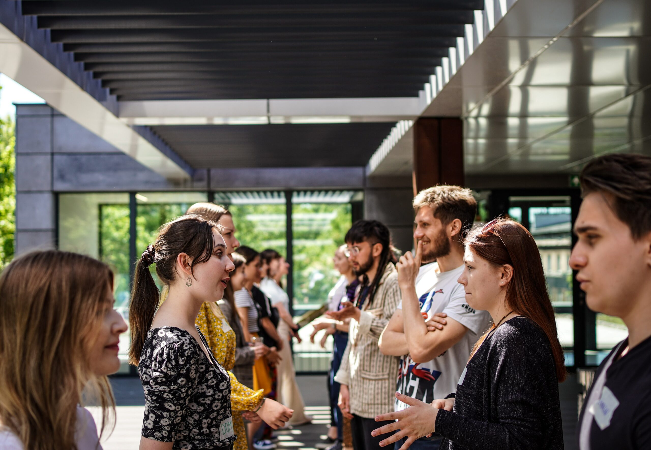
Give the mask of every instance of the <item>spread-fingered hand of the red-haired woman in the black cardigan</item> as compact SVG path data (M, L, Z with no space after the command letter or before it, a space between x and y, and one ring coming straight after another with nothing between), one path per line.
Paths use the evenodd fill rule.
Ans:
M398 392L396 392L396 398L402 403L408 404L409 408L398 412L381 414L376 417L376 422L385 420L395 420L395 422L373 430L371 434L372 436L379 436L380 434L399 430L396 431L395 434L389 436L389 438L381 441L380 446L386 447L387 445L393 444L406 437L407 440L402 447L400 447L400 450L406 450L415 440L420 439L423 436L428 436L435 431L434 424L436 423L436 415L439 412L439 409L434 407L434 403L424 403Z

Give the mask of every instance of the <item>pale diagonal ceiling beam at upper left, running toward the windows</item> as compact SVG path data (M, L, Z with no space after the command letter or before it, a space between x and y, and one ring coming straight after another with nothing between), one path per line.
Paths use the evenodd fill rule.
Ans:
M190 179L186 170L118 119L100 101L2 24L0 24L0 72L165 178L178 182Z

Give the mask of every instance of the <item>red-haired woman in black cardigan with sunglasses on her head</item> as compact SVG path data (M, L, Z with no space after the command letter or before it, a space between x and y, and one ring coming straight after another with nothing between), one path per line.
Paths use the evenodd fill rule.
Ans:
M554 310L547 295L538 247L518 222L497 218L472 230L459 277L470 308L489 311L493 325L482 336L456 393L412 405L376 420L396 423L373 435L400 429L381 445L408 437L404 449L433 432L441 449L563 448L559 382L565 365Z

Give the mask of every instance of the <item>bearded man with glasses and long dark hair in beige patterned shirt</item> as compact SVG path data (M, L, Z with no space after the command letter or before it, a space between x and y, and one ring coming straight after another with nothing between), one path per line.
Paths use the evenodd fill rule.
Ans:
M400 289L391 252L389 229L378 220L358 220L346 233L346 255L361 284L353 302L328 313L335 320L350 318L348 345L335 376L340 383L339 408L351 419L355 450L380 450L371 436L375 417L393 410L398 358L381 354L378 339L400 302ZM388 422L387 422L388 423Z

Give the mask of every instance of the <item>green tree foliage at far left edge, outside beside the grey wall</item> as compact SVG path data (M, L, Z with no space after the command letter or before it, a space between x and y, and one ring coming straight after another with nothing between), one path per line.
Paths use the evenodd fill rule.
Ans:
M14 121L0 120L0 265L4 266L14 258L14 232L16 220L16 157L14 146L16 135Z

